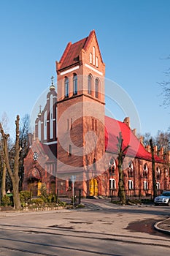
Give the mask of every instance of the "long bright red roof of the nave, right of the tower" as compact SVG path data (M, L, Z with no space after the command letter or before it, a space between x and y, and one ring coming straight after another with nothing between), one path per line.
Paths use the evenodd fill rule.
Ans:
M129 145L125 155L144 160L152 160L152 155L148 152L138 138L134 135L127 124L105 116L105 148L106 151L117 154L117 137L122 132L123 149ZM155 162L163 162L163 159L155 156Z

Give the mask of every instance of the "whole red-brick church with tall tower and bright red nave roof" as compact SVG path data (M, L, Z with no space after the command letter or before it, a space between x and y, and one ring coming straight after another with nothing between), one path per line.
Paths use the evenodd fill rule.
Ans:
M117 136L123 148L127 195L152 195L152 155L130 127L130 118L117 121L105 116L104 75L95 31L72 44L56 61L57 92L52 83L45 108L35 121L35 135L24 161L23 189L39 195L42 183L47 191L82 196L109 196L118 192ZM170 189L170 154L155 147L157 189Z

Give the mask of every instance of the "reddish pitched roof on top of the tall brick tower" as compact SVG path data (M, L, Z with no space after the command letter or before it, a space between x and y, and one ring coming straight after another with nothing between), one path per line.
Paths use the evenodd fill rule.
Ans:
M72 65L78 64L80 61L79 56L80 56L81 50L82 49L85 51L88 50L88 46L90 45L90 42L93 39L93 36L96 37L96 33L94 30L90 31L90 34L88 37L85 37L78 42L74 42L74 44L72 44L72 42L69 42L68 45L66 46L66 49L63 52L63 56L61 56L61 60L59 61L59 69L64 69L66 67L70 67ZM97 45L98 45L98 42L97 42ZM99 53L100 53L100 50L99 50ZM100 56L101 56L101 53L100 53Z

